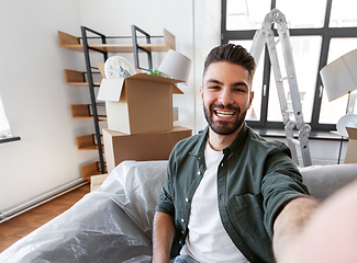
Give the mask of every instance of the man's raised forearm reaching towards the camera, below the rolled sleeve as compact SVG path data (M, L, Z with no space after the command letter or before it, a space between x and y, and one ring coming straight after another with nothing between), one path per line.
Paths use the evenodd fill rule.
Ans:
M274 224L272 238L277 263L298 262L301 232L317 207L319 202L314 198L298 197L280 211Z

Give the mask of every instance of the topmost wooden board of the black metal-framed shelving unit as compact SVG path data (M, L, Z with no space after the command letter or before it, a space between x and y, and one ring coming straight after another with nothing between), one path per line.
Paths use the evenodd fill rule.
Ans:
M59 46L74 52L83 52L83 46L80 44L79 37L69 35L65 32L58 31ZM132 45L120 44L89 44L90 48L105 53L132 53ZM138 45L141 48L149 52L168 52L176 49L175 36L164 28L164 43L163 44L144 44ZM90 49L90 52L93 52Z

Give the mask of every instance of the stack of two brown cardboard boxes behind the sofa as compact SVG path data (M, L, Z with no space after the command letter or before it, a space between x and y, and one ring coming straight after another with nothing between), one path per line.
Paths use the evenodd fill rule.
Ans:
M145 73L102 80L98 100L105 101L109 173L124 160L168 160L174 146L192 135L189 128L174 126L172 94L182 94L178 82Z

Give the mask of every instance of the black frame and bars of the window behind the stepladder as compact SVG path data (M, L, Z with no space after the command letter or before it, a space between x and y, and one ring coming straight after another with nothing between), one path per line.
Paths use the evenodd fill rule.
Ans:
M226 25L226 1L222 0L222 19L221 19L221 44L227 44L230 41L252 41L256 30L246 31L227 31ZM331 9L333 0L326 0L325 20L323 27L320 28L289 28L290 36L321 36L321 50L319 58L319 67L316 72L315 92L313 98L313 107L311 122L312 130L316 132L330 132L336 129L336 124L323 124L319 123L320 108L322 104L323 83L320 77L320 70L327 64L327 56L330 49L330 41L332 38L355 38L357 36L356 27L328 27ZM271 0L270 10L276 8L276 0ZM278 36L276 30L272 30L275 35ZM263 85L266 85L265 94L261 93L261 107L260 107L260 121L246 121L253 128L271 128L283 129L282 122L271 122L267 119L268 114L268 101L269 101L269 88L270 88L270 71L271 65L267 47L265 47L265 57L260 58L260 62L264 62L264 76ZM263 87L261 87L263 88Z

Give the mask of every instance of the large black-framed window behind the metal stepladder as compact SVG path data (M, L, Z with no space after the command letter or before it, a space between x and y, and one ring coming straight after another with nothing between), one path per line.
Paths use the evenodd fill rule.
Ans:
M258 8L257 8L258 7ZM250 49L265 15L279 9L287 19L304 122L313 130L336 129L338 119L357 112L357 91L328 102L320 70L339 56L357 48L357 2L349 0L222 0L222 44L234 43ZM274 30L276 37L278 34ZM279 66L283 56L277 46ZM283 128L278 92L269 55L264 53L253 83L255 99L247 114L252 127ZM289 89L285 90L291 107ZM290 98L290 99L289 99ZM292 117L293 119L293 117Z

